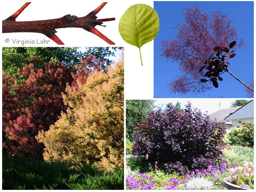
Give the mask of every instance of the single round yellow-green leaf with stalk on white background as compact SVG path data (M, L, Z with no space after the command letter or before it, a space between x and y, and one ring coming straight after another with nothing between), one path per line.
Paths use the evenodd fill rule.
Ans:
M130 6L122 15L119 25L119 33L127 43L139 48L152 41L159 30L159 17L157 12L145 4ZM142 58L141 58L141 65Z

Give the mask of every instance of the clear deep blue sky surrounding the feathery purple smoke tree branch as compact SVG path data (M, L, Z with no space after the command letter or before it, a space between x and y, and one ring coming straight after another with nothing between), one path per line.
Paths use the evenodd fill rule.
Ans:
M221 11L229 16L233 22L231 25L238 34L238 39L243 38L247 42L246 47L242 47L236 51L237 55L228 67L229 71L241 79L243 82L250 81L250 76L254 75L254 28L253 28L253 2L242 1L170 1L170 2L154 2L154 9L157 11L160 21L160 27L157 37L154 39L154 96L159 98L247 98L245 86L238 82L227 72L221 77L219 87L213 87L208 94L171 94L167 89L167 84L179 74L178 63L170 62L166 58L162 58L158 51L158 45L163 39L174 39L177 30L171 29L179 23L183 23L182 9L188 6L197 5L204 12ZM210 95L209 95L210 94Z

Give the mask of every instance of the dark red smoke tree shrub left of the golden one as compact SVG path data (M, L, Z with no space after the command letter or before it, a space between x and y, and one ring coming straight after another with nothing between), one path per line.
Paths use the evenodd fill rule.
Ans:
M30 58L36 62L37 58ZM68 69L64 63L44 63L41 69L35 69L34 63L18 69L23 77L22 83L16 77L2 73L2 131L3 154L9 156L43 158L43 144L35 136L38 131L47 131L56 122L61 111L66 111L62 98L66 84L76 87L77 81L86 82L95 69L101 69L103 63L91 54L78 66ZM25 80L26 79L26 80Z

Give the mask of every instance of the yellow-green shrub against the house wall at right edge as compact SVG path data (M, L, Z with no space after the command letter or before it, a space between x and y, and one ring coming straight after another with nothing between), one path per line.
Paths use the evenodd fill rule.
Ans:
M254 146L254 121L238 121L246 127L234 127L231 128L231 132L228 134L230 145L240 145L240 146Z

